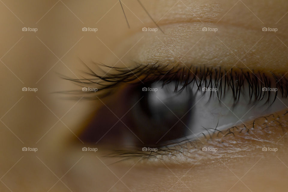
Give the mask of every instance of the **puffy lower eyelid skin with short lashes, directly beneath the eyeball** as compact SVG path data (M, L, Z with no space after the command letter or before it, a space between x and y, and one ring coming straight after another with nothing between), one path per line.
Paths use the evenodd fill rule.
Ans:
M118 157L119 160L126 159L126 162L134 163L140 160L150 166L163 166L161 161L165 164L191 166L202 158L212 160L225 156L229 158L247 156L249 152L261 153L263 147L276 147L277 151L280 151L287 144L286 119L288 111L283 110L224 131L213 130L210 134L206 132L204 133L206 138L203 136L181 144L159 147L156 152L142 151L142 148L138 147L137 150L124 149L121 153L115 152L108 157ZM199 163L201 164L201 161L197 164Z

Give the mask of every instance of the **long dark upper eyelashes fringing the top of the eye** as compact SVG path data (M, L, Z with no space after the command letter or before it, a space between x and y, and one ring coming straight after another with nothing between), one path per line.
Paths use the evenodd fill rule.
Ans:
M86 65L86 64L85 64ZM90 78L83 79L69 79L77 83L94 84L98 85L98 97L103 97L112 94L116 91L116 87L123 83L131 84L150 84L153 82L163 81L162 88L170 82L175 82L174 91L181 91L187 85L193 83L198 89L202 87L217 88L216 92L218 99L224 97L226 91L229 89L232 91L234 103L238 102L241 89L245 83L249 88L250 101L258 102L266 98L266 102L270 101L271 95L272 103L277 98L277 94L280 91L281 96L286 98L288 96L288 78L281 74L275 74L273 72L263 73L256 70L248 69L223 69L221 67L206 67L206 66L173 66L169 69L169 65L162 64L136 64L133 68L119 68L111 67L104 64L97 64L109 68L104 75L95 73L87 65L89 72L85 72ZM212 83L212 80L214 83ZM99 88L100 87L100 88ZM276 92L262 91L264 87L275 87ZM105 93L101 90L107 90ZM70 93L77 93L77 91L70 91ZM92 92L90 92L92 93ZM94 92L93 92L94 93ZM214 92L210 92L210 96ZM265 97L267 96L267 97Z

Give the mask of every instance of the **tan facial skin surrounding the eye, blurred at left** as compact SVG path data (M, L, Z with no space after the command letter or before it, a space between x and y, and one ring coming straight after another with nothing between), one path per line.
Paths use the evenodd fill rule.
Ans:
M81 78L80 70L87 69L79 58L92 69L91 61L110 66L158 61L227 69L235 64L285 74L287 1L143 1L165 34L159 29L156 33L142 31L143 27L156 26L137 1L122 2L131 29L116 0L3 3L1 191L288 190L288 127L284 124L288 116L282 115L286 110L275 111L283 124L273 124L270 132L260 127L253 134L223 137L224 144L217 138L205 143L218 148L217 156L195 152L194 159L183 156L180 164L166 159L109 165L117 159L104 158L104 148L96 146L95 153L82 152L88 145L77 139L101 103L52 94L79 89L58 75ZM24 32L22 27L38 31ZM85 32L82 27L98 31ZM218 31L203 32L203 27ZM263 27L278 31L265 32ZM38 91L22 92L22 87L37 87ZM258 120L259 125L263 123L265 119ZM23 152L24 146L37 147L38 151ZM277 147L278 151L263 152L264 146Z

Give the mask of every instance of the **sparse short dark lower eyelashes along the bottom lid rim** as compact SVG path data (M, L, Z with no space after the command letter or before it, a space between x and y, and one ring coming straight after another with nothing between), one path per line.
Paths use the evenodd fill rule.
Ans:
M205 146L205 142L211 141L213 139L217 139L217 142L221 142L222 137L226 136L232 136L235 137L235 134L253 134L253 130L263 130L267 131L268 133L271 133L268 129L274 126L287 126L286 122L280 123L280 118L283 116L287 116L288 111L286 111L285 114L282 114L281 117L275 113L270 114L268 116L263 116L263 117L258 117L255 120L253 120L252 123L249 125L241 124L239 126L233 126L231 128L226 129L225 131L220 131L217 130L216 128L205 128L206 133L201 133L203 137L201 137L201 140L196 138L196 139L186 139L183 140L179 143L172 143L168 144L165 146L158 146L158 147L151 147L154 149L157 149L157 151L143 151L142 148L146 147L148 148L149 146L133 146L133 149L122 149L122 150L114 150L112 153L106 155L105 157L113 157L113 158L122 158L120 161L125 161L125 160L131 160L131 159L137 159L141 158L141 161L149 161L149 160L165 160L166 158L172 158L177 156L177 154L183 154L188 152L188 147L187 145L190 145L193 147L192 149L198 149L201 150L203 146ZM259 125L257 123L257 120L261 120L264 118L267 122L270 123L269 126L267 126L267 123L263 123L262 125ZM265 127L262 127L265 124ZM209 133L211 131L211 133ZM246 135L247 136L247 135ZM219 139L220 138L220 139ZM219 139L219 140L218 140ZM190 149L189 148L189 149ZM118 163L120 161L116 161L115 163Z

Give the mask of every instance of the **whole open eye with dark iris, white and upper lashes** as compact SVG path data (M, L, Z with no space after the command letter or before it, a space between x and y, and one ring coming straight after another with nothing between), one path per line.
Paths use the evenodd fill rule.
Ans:
M164 150L183 143L187 146L202 136L234 134L229 128L238 129L238 125L244 125L241 131L249 132L255 121L252 125L245 122L288 104L283 99L287 97L287 79L281 75L240 69L166 68L157 64L112 68L114 71L105 76L91 70L92 78L86 83L99 92L90 92L90 96L109 104L98 109L80 137L99 145Z

